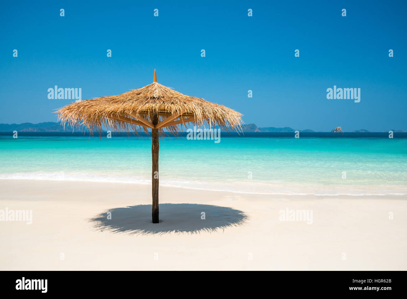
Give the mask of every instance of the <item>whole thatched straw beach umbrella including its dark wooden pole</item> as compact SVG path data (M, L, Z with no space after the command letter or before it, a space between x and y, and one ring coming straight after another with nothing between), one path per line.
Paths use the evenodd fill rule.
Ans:
M240 130L243 124L239 112L161 85L157 82L155 69L150 85L121 95L74 102L56 113L63 125L68 122L71 126L84 126L99 135L103 134L102 127L116 132L137 132L142 128L147 133L151 130L153 223L159 223L158 139L164 135L164 128L176 134L179 126L186 126L189 122L197 126L218 125L225 130Z

